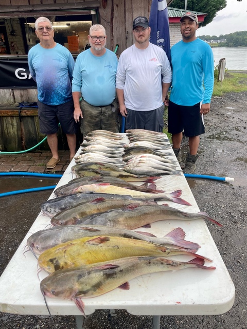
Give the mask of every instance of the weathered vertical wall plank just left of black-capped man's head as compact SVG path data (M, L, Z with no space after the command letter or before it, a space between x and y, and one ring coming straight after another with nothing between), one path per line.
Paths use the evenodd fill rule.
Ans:
M117 53L120 54L126 49L125 1L114 0L113 6L113 48L118 44Z

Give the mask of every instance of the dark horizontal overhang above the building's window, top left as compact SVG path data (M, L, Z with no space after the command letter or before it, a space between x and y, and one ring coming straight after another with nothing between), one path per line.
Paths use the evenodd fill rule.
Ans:
M47 4L30 6L0 6L0 18L39 17L39 16L67 16L67 15L94 15L100 6L99 0L84 1L69 4ZM86 8L86 9L83 9Z

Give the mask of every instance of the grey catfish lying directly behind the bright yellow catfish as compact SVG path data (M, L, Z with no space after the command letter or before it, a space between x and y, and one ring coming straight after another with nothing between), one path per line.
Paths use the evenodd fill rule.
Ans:
M185 232L180 227L174 229L163 237L156 237L147 232L138 233L102 225L68 225L41 230L28 237L27 246L32 253L36 255L41 254L45 250L55 247L58 244L79 239L80 237L95 235L120 236L159 245L173 245L190 249L192 252L196 252L198 248L200 248L197 243L184 240Z

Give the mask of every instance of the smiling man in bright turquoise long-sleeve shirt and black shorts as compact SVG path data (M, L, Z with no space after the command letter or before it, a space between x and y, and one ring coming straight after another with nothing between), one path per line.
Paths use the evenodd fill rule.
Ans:
M181 18L183 40L171 48L172 85L168 107L168 132L173 151L182 165L180 148L189 137L184 173L196 169L200 135L205 133L203 116L210 111L214 88L214 57L210 46L196 38L198 17L188 12Z

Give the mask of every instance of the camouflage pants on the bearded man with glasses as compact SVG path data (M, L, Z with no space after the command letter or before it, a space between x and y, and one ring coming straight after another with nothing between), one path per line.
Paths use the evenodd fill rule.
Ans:
M99 129L119 133L119 109L116 100L110 105L93 106L82 98L80 107L83 115L80 129L83 136Z

